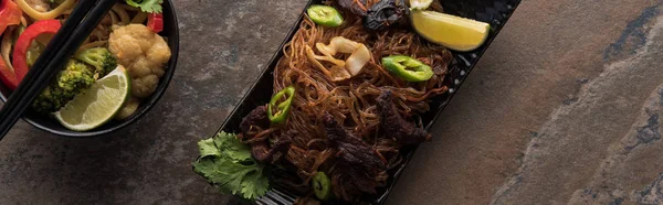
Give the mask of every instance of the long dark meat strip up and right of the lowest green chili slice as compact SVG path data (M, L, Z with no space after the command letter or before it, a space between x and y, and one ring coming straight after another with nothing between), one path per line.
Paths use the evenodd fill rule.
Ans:
M327 139L338 149L337 158L369 170L385 169L385 159L361 139L347 133L332 115L325 115L324 121Z

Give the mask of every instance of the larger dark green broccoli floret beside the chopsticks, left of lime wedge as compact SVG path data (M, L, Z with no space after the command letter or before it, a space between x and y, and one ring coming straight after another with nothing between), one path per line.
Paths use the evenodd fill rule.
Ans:
M66 102L95 82L95 74L87 65L71 60L57 77L36 97L32 107L39 112L60 110Z

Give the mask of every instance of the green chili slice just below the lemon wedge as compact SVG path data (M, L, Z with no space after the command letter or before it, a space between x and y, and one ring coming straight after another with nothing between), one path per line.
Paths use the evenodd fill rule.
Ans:
M404 55L382 57L387 71L408 82L423 82L433 77L431 66Z

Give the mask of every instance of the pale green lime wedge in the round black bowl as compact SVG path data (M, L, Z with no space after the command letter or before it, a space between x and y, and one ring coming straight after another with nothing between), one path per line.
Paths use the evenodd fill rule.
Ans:
M104 125L128 99L130 82L127 71L117 66L56 111L55 119L74 131L87 131Z

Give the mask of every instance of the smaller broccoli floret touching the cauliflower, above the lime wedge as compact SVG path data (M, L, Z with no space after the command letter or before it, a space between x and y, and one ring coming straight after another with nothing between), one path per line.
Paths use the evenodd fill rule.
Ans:
M117 67L115 56L105 47L93 47L80 52L74 56L76 60L85 62L96 68L95 73L98 78L106 76Z

